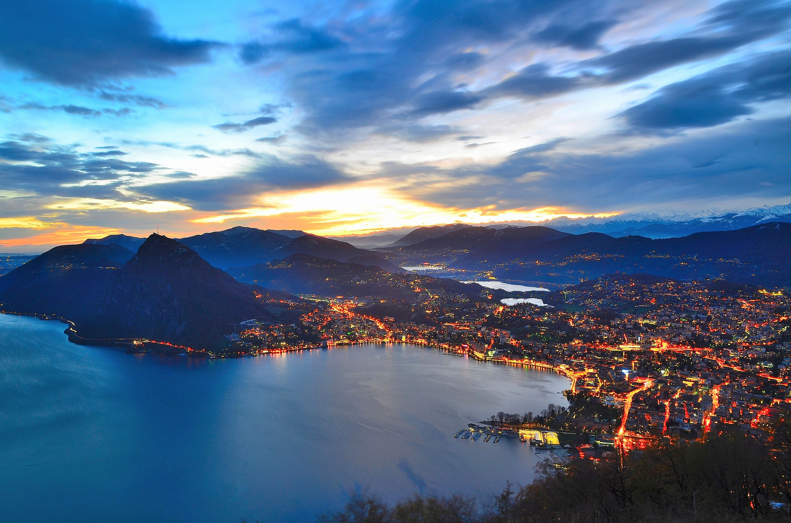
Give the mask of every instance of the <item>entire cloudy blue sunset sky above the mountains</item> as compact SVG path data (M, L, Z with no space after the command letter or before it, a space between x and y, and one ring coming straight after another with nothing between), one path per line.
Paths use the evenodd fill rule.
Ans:
M0 0L0 246L791 201L791 2Z

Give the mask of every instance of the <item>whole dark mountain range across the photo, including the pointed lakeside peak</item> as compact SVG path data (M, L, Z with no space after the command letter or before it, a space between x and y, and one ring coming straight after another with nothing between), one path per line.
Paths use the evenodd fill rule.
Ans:
M791 224L785 222L668 239L454 224L409 231L396 242L402 245L375 251L282 232L289 235L237 227L179 240L112 235L56 246L0 277L0 310L68 318L85 338L217 348L240 321L283 322L267 302L297 300L288 293L404 303L414 288L483 296L477 285L406 273L400 265L407 264L441 263L500 280L554 284L631 273L791 286ZM464 278L474 279L468 272ZM299 321L294 314L288 322Z

